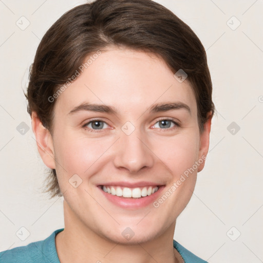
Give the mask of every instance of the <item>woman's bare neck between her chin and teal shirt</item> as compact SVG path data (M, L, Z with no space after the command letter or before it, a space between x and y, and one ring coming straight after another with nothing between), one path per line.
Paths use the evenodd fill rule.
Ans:
M61 263L181 263L173 247L174 224L165 233L141 243L116 243L93 232L74 215L64 200L65 227L56 235L55 245Z

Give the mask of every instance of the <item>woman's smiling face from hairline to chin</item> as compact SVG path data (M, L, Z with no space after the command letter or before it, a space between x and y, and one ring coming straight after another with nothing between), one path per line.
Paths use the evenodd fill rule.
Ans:
M187 79L153 54L103 51L55 101L53 125L49 166L74 223L114 242L174 226L209 143Z

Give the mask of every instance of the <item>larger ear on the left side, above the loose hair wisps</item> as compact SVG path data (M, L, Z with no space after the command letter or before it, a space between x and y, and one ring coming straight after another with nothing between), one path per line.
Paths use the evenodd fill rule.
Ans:
M55 158L54 158L54 147L53 139L49 130L46 129L39 117L37 117L36 112L32 112L31 124L33 133L35 135L37 150L47 167L55 169Z

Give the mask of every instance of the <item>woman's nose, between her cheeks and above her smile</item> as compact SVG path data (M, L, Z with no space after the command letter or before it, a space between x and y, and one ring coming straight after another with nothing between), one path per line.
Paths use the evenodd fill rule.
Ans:
M129 173L138 173L142 168L154 165L154 153L146 136L137 132L126 135L121 132L116 145L114 164L117 168L126 169Z

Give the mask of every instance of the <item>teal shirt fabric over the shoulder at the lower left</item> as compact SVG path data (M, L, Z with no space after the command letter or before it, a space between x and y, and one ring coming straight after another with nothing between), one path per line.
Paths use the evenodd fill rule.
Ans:
M44 240L29 243L27 246L17 247L0 252L0 262L3 263L45 263L59 262L58 254L55 250L55 234L62 231L54 231Z

